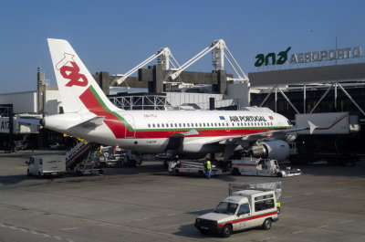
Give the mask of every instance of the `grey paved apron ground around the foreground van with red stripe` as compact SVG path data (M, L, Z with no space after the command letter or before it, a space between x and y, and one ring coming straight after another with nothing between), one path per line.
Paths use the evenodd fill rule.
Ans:
M365 241L364 161L298 166L303 174L289 178L174 176L150 161L38 179L26 176L30 154L0 153L0 241ZM280 220L229 238L200 234L195 217L224 199L229 183L251 181L283 183Z

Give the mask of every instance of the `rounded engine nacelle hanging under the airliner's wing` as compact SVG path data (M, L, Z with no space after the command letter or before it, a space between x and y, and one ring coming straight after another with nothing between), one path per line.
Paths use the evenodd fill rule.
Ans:
M250 155L264 159L285 161L289 156L289 145L283 141L259 142L252 146Z

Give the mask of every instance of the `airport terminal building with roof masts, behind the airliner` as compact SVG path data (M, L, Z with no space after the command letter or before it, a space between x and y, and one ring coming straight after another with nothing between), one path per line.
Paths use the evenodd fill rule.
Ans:
M298 54L290 54L289 50L291 47L277 55L257 55L257 71L246 76L223 40L214 41L182 66L169 49L163 48L125 75L100 71L94 79L110 100L124 110L240 110L257 106L281 113L293 122L297 114L349 112L359 118L363 130L365 59L361 48ZM212 72L186 70L206 54L212 54ZM157 59L157 64L146 68L153 59ZM133 73L136 76L132 77ZM13 140L30 139L36 142L35 147L65 142L63 135L55 132L15 132L15 124L8 119L19 114L41 118L62 112L57 88L47 85L40 69L37 84L35 91L0 94L1 119L6 123L7 118L10 124L2 126L2 140L13 132Z

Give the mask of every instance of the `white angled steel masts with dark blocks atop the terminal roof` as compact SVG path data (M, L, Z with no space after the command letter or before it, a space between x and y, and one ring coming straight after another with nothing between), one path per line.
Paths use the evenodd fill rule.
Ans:
M187 68L210 53L212 53L213 72L186 71ZM143 68L156 58L157 65ZM228 65L225 65L225 61ZM226 73L225 68L227 66L232 68L235 76ZM138 71L138 78L130 77L136 71ZM151 55L151 57L143 60L135 68L131 68L125 74L109 76L109 73L107 75L106 73L99 72L94 78L99 81L103 89L109 83L108 85L110 87L124 89L148 88L150 93L162 93L163 91L179 89L179 86L181 87L182 85L191 87L194 84L209 84L213 86L213 92L224 94L227 83L233 83L234 80L248 82L245 72L239 66L223 39L214 40L212 44L203 48L202 51L193 56L193 58L190 58L183 65L180 65L173 58L169 48L164 47Z

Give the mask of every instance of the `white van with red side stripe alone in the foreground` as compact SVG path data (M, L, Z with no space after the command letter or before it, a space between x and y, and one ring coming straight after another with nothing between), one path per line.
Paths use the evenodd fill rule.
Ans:
M230 237L232 232L262 226L270 229L278 220L274 191L244 190L226 197L212 213L198 216L194 226L202 233Z

